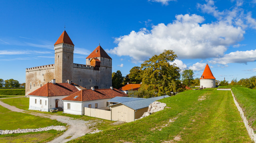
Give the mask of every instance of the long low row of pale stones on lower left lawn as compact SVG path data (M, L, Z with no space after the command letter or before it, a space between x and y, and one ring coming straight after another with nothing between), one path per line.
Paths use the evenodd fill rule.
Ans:
M37 129L16 129L16 130L0 130L0 135L5 135L5 134L17 134L17 133L28 133L28 132L41 132L41 131L46 131L46 130L65 130L65 126L48 126L44 128L37 128Z

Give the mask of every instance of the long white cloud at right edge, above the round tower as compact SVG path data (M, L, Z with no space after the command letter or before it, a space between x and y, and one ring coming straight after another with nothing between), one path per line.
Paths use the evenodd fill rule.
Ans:
M254 61L256 61L256 50L231 52L229 54L224 55L221 58L214 58L209 62L213 64L226 65L229 63L247 64L247 62L254 62Z

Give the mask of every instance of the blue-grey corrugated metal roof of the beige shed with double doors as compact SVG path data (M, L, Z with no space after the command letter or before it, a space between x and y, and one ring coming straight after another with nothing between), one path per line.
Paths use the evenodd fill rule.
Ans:
M168 95L165 96L158 96L152 98L140 98L139 100L127 101L127 102L119 102L127 107L130 107L134 110L142 109L148 107L151 103L155 102L156 100L163 99L166 97L170 97ZM126 97L127 98L127 97ZM115 105L115 104L114 104ZM112 106L112 105L110 105Z

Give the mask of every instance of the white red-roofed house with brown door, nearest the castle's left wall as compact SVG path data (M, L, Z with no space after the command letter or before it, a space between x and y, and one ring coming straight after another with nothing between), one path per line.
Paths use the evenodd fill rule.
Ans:
M85 89L77 84L71 83L47 83L37 90L29 93L29 110L49 112L50 109L63 108L62 98L72 93Z

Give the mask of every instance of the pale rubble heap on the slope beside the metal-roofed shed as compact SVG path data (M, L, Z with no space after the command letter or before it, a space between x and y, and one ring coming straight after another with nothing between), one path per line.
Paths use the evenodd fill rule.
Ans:
M153 103L151 103L149 106L148 106L148 110L147 112L145 112L141 117L141 118L144 118L152 113L155 113L157 111L161 111L161 110L164 110L166 104L165 103L161 103L161 102L158 102L158 101L155 101ZM136 120L136 119L135 119Z

